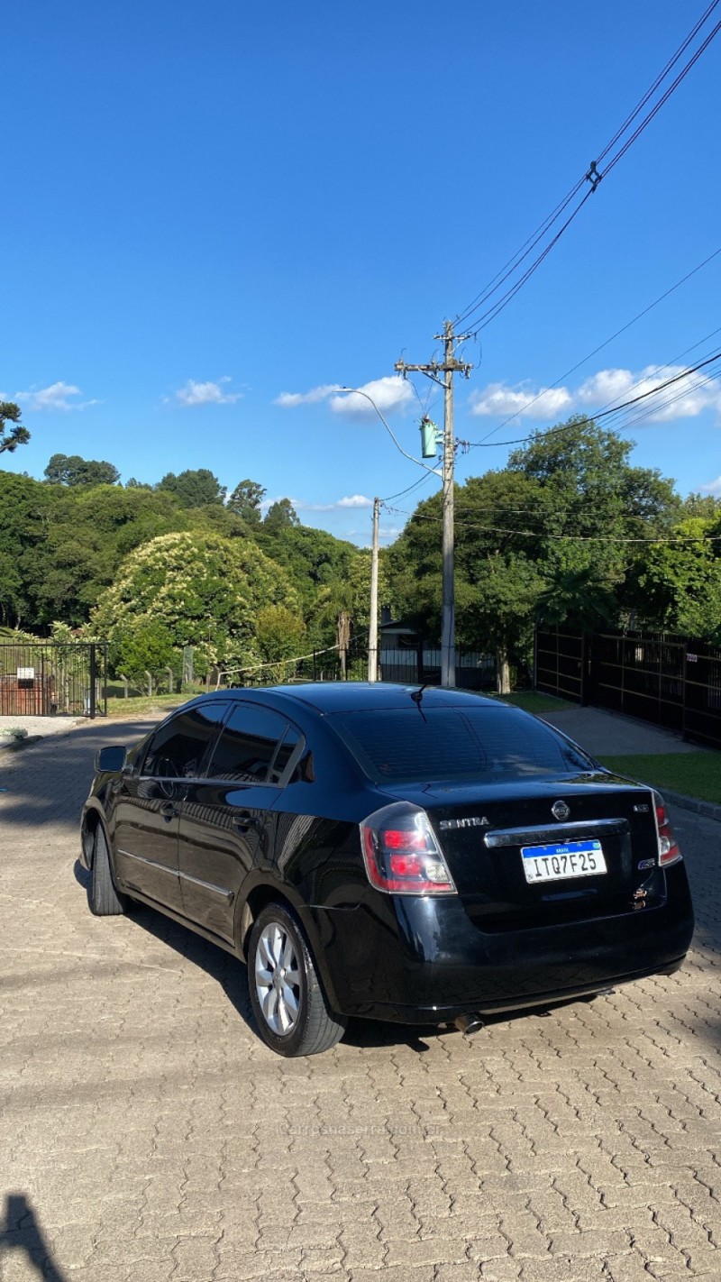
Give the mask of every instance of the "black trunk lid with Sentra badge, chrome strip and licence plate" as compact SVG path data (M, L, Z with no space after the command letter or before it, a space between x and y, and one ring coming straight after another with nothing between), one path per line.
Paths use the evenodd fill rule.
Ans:
M663 894L649 788L598 772L392 791L426 812L480 929L629 913Z

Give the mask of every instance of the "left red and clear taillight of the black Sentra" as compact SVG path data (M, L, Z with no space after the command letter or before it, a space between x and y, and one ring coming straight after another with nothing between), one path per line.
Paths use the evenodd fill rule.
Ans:
M371 886L387 895L455 895L425 810L398 801L364 819L361 849Z

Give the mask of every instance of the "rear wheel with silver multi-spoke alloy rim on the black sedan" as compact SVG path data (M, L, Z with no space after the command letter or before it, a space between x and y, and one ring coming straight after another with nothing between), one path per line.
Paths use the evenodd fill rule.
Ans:
M260 1036L278 1055L319 1055L346 1031L330 1010L304 929L283 904L268 904L254 922L248 988Z

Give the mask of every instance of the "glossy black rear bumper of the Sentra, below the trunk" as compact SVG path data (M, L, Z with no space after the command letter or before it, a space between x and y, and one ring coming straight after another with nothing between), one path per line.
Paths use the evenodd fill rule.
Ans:
M339 1013L443 1023L671 974L694 924L683 863L667 869L666 886L656 908L498 933L479 931L457 896L373 892L353 910L311 913Z

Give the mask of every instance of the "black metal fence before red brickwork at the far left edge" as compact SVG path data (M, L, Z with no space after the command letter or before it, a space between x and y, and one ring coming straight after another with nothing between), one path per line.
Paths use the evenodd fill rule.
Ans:
M108 713L108 647L97 642L0 644L1 717Z

